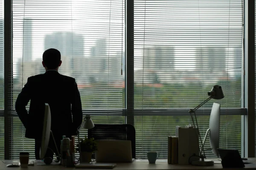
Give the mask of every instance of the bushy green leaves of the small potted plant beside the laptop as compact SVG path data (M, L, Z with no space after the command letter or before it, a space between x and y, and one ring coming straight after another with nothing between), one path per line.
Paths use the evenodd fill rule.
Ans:
M76 151L79 152L79 143L76 145ZM88 139L86 136L84 139L80 139L81 152L94 152L97 150L97 143L94 138Z

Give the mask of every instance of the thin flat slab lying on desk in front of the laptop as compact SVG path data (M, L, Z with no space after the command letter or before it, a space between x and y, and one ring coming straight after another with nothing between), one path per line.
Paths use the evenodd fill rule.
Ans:
M76 168L91 168L91 169L113 169L116 164L113 163L78 163L75 165Z

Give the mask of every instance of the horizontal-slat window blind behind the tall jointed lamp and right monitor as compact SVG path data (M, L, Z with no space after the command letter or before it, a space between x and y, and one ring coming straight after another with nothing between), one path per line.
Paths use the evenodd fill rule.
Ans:
M138 158L146 159L150 150L167 158L167 136L175 135L176 125L192 124L189 108L207 99L213 85L222 86L225 98L212 99L198 111L201 135L209 127L207 110L217 102L224 109L220 146L241 150L241 116L233 115L240 110L228 112L241 108L242 39L242 0L134 0ZM172 109L180 116L168 113Z

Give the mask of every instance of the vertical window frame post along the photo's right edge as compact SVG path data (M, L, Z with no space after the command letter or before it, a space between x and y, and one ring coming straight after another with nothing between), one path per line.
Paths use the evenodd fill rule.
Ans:
M255 156L255 0L244 0L244 86L241 116L241 155ZM250 92L250 93L249 93Z

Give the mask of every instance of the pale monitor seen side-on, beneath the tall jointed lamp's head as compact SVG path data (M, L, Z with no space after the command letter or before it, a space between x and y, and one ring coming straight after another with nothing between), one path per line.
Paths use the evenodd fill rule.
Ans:
M216 156L219 156L217 149L219 147L220 113L221 113L221 105L218 103L213 103L210 120L209 120L209 128L206 131L206 134L204 136L204 141L203 141L203 146L204 146L207 135L209 133L211 150L212 150L212 153L214 153Z

